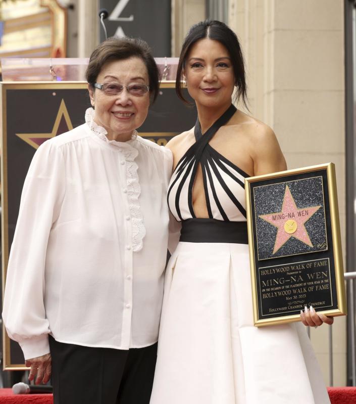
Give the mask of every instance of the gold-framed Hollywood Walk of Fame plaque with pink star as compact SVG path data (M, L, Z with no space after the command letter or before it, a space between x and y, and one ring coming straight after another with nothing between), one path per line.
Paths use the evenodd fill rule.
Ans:
M333 163L245 179L255 326L346 314Z

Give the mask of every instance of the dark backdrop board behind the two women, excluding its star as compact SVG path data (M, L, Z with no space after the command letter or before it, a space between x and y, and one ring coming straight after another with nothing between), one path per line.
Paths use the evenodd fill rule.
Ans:
M2 220L5 222L3 238L8 240L8 252L10 253L13 242L17 216L20 207L22 187L25 181L28 167L36 149L16 136L16 133L50 133L52 132L62 99L65 102L73 127L85 122L86 108L90 107L87 84L83 88L70 88L70 84L63 82L63 89L50 88L23 88L13 89L6 87L6 104L3 103L2 119L6 121L7 131L2 133L7 140L7 153L2 156L3 169L7 169L7 184L3 184L4 193L8 197L8 211L3 211ZM33 83L31 83L33 86ZM39 84L43 87L44 84ZM173 87L173 85L172 85ZM183 89L186 99L190 99L186 89ZM56 95L54 96L53 93ZM191 99L190 99L191 100ZM148 111L148 116L143 125L138 128L140 132L150 132L149 136L155 141L164 139L169 141L172 136L167 133L178 134L194 126L196 109L187 107L176 96L174 88L160 89L160 94ZM62 123L60 127L62 126ZM60 131L64 133L65 130ZM3 151L4 153L4 151ZM6 262L7 264L7 262ZM6 268L2 268L6 273ZM6 358L6 365L10 367L24 367L24 356L17 342L9 339L4 332L3 339L10 343L10 358ZM4 355L4 352L3 352Z

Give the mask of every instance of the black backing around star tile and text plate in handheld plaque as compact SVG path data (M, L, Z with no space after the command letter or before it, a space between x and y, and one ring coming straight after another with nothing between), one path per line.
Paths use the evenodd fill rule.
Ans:
M325 218L326 218L326 237L328 242L328 249L326 251L319 251L319 252L309 252L304 254L297 254L293 256L285 256L285 257L276 257L270 259L259 260L258 253L257 253L257 234L255 226L252 226L253 229L253 251L255 255L255 271L256 271L256 287L257 287L257 296L259 297L261 294L261 288L259 283L259 268L265 266L275 266L281 264L293 264L295 262L300 261L308 261L313 259L323 259L329 258L330 260L330 280L331 280L331 290L332 290L332 300L333 305L328 307L328 309L336 309L337 308L337 291L336 291L336 279L335 279L335 263L334 263L334 250L333 250L333 243L332 243L332 234L331 234L331 220L330 220L330 201L329 201L329 191L328 191L328 177L327 177L327 170L326 168L323 170L315 170L300 174L291 174L286 175L283 177L276 177L276 178L269 178L262 181L256 181L249 183L250 186L250 204L251 204L251 216L252 222L255 222L255 203L253 201L253 188L260 187L263 185L271 185L271 184L278 184L281 182L289 182L295 181L298 179L304 178L311 178L315 176L322 176L323 178L323 189L324 189L324 209L325 209ZM299 208L299 206L298 206ZM272 226L272 225L271 225ZM318 311L318 307L314 307ZM266 311L266 310L265 310ZM296 309L293 312L288 313L288 315L297 315L300 313L300 309ZM260 300L258 302L258 315L259 319L266 319L269 317L284 317L286 316L285 313L278 313L274 312L270 315L262 315L262 307L260 304Z

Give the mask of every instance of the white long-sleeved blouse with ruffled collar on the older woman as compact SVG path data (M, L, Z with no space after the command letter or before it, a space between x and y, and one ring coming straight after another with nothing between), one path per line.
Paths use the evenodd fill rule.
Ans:
M158 340L172 153L86 123L43 143L26 176L3 320L25 358L57 341L117 349Z

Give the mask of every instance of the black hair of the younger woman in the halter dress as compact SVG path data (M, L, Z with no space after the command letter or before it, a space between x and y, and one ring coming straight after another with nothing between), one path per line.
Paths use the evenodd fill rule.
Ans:
M179 57L177 76L176 76L176 93L178 97L188 103L183 97L181 81L183 78L183 69L185 67L186 58L191 47L200 39L209 38L219 41L229 52L232 67L234 69L235 85L237 86L236 100L242 99L243 104L247 108L247 85L245 79L245 66L240 42L235 34L226 24L216 20L200 21L193 25L184 39L182 50Z

